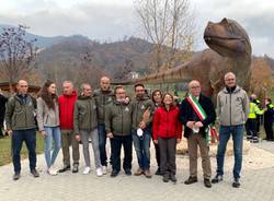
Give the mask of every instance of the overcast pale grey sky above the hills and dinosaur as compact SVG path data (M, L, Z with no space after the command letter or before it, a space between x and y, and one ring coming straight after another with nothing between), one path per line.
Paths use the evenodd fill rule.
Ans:
M203 32L208 21L224 16L248 32L253 54L274 58L273 0L190 0L195 13L195 50L206 48ZM0 0L0 24L25 24L42 36L81 34L114 42L141 36L134 0Z

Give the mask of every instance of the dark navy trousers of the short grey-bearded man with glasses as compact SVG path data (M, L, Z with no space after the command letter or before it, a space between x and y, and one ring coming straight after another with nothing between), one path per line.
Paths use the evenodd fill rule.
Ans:
M121 149L124 147L124 170L132 169L133 162L133 138L132 134L125 137L114 135L111 139L112 149L112 170L118 173L121 170Z

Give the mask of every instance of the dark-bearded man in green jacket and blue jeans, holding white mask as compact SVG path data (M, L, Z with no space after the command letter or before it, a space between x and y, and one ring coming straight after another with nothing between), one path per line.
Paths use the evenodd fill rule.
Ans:
M151 178L150 173L150 140L153 103L145 93L145 85L135 85L136 98L133 102L133 141L139 164L139 168L134 174L139 176L145 174Z

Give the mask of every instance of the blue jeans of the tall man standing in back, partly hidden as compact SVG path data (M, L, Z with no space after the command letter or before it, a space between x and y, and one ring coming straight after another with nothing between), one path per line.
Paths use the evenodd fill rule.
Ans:
M107 157L106 157L106 151L105 151L106 131L105 131L104 123L98 125L98 133L99 133L99 150L100 150L101 164L102 166L106 166L107 165Z

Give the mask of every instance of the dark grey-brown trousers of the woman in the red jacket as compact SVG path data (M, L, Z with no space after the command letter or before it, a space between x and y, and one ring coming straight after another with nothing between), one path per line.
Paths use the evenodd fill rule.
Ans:
M176 138L158 138L160 149L160 170L162 174L176 174Z

